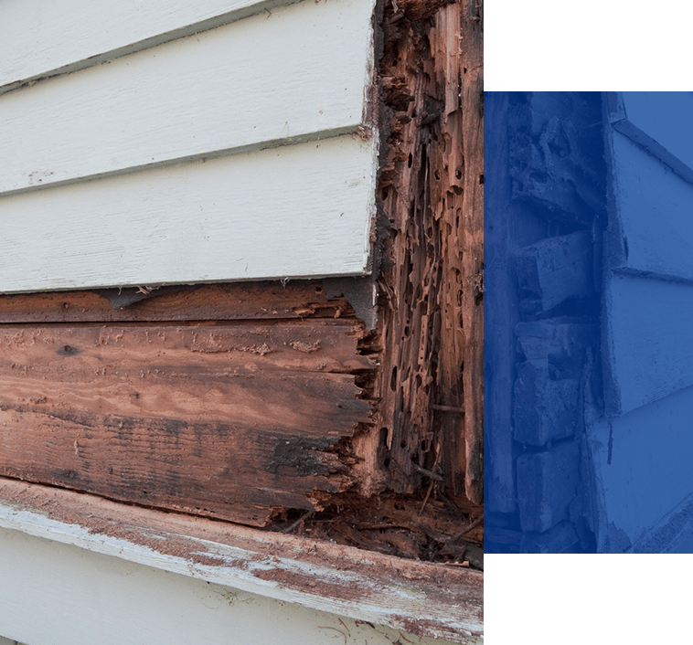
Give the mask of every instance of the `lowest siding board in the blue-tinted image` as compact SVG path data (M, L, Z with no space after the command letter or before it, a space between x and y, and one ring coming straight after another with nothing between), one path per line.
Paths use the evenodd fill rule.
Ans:
M667 553L693 531L690 453L682 449L691 409L688 387L622 417L586 419L597 553Z

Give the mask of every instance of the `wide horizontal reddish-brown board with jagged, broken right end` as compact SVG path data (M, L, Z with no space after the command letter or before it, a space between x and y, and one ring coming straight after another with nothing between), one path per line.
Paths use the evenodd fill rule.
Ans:
M0 472L262 525L348 486L354 322L4 326Z

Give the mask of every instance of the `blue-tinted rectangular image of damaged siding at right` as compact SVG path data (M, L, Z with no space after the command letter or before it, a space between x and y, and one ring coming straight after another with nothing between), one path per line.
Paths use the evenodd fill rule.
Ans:
M485 552L693 553L693 92L484 131Z

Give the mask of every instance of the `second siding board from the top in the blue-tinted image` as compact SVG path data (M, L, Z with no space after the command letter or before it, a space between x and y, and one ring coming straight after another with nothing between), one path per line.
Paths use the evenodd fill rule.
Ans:
M610 267L693 280L693 185L620 132L612 132ZM646 181L645 181L646 177Z

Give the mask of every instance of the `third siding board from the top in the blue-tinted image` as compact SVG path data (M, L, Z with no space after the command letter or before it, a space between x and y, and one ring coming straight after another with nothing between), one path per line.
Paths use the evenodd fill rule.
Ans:
M610 416L693 386L693 286L613 275L602 316Z

